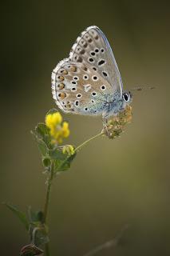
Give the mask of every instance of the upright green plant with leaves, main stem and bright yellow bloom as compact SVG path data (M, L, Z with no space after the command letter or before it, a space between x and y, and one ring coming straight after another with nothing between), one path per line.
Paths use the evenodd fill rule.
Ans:
M62 138L69 136L68 126L66 127L67 135L65 136L65 132L63 133L61 114L57 112L57 110L49 110L49 113L45 116L45 123L38 123L38 126L31 131L38 143L38 149L42 155L42 163L45 167L45 173L47 174L47 192L44 211L33 211L31 207L29 207L27 217L26 214L18 210L18 207L5 203L30 234L30 244L22 247L22 256L42 254L43 251L38 248L38 246L49 242L49 228L46 224L46 215L48 212L49 192L53 177L57 172L68 170L73 158L76 156L73 146L58 146ZM51 133L51 128L53 129L53 133ZM57 134L59 134L59 137ZM48 256L49 254L45 253L45 255Z

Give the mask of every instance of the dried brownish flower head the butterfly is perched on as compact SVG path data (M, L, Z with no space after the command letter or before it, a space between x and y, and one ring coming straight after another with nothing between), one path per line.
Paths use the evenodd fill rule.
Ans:
M110 118L105 123L103 132L109 138L118 137L125 128L127 123L132 121L132 106L126 106L125 110L117 114L116 117Z

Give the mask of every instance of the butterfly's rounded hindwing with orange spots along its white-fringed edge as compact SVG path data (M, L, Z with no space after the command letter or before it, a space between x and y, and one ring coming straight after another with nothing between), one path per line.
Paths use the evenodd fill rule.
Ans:
M65 112L101 114L107 100L105 91L112 94L112 86L93 68L65 59L52 74L53 98Z

